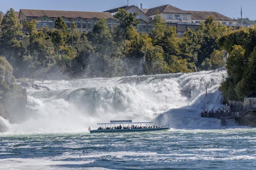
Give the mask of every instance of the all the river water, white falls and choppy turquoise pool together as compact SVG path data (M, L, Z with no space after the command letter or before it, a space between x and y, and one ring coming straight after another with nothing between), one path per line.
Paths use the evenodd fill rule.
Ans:
M201 118L219 110L225 69L151 76L18 81L27 111L0 117L0 169L255 169L256 129ZM132 119L166 132L89 134Z

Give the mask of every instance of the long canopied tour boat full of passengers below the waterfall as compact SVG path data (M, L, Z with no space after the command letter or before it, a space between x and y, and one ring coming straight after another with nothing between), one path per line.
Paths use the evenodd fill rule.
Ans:
M148 131L166 131L169 125L152 126L153 122L132 122L132 120L110 120L110 123L98 123L100 127L97 130L91 130L90 133L114 133L114 132L148 132Z

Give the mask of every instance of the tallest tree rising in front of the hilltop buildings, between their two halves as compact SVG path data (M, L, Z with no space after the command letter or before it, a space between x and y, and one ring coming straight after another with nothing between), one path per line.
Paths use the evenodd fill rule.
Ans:
M119 20L119 28L123 32L124 40L126 40L128 30L139 23L139 19L136 18L137 15L137 12L132 14L128 13L125 9L118 9L118 12L114 14L114 18Z

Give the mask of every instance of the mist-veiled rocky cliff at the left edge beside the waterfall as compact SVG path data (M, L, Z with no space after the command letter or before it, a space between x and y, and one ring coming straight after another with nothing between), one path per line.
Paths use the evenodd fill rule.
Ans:
M20 85L13 83L12 67L0 57L0 117L10 123L17 123L23 118L26 110L27 92ZM6 129L0 122L0 132Z

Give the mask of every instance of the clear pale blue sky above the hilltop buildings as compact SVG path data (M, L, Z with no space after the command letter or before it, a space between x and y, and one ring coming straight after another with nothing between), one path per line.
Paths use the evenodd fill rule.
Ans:
M170 4L183 10L215 11L230 18L241 16L256 20L256 0L128 0L129 5L143 8L154 8ZM0 0L0 11L10 8L19 9L49 9L73 11L105 11L127 5L127 0Z

